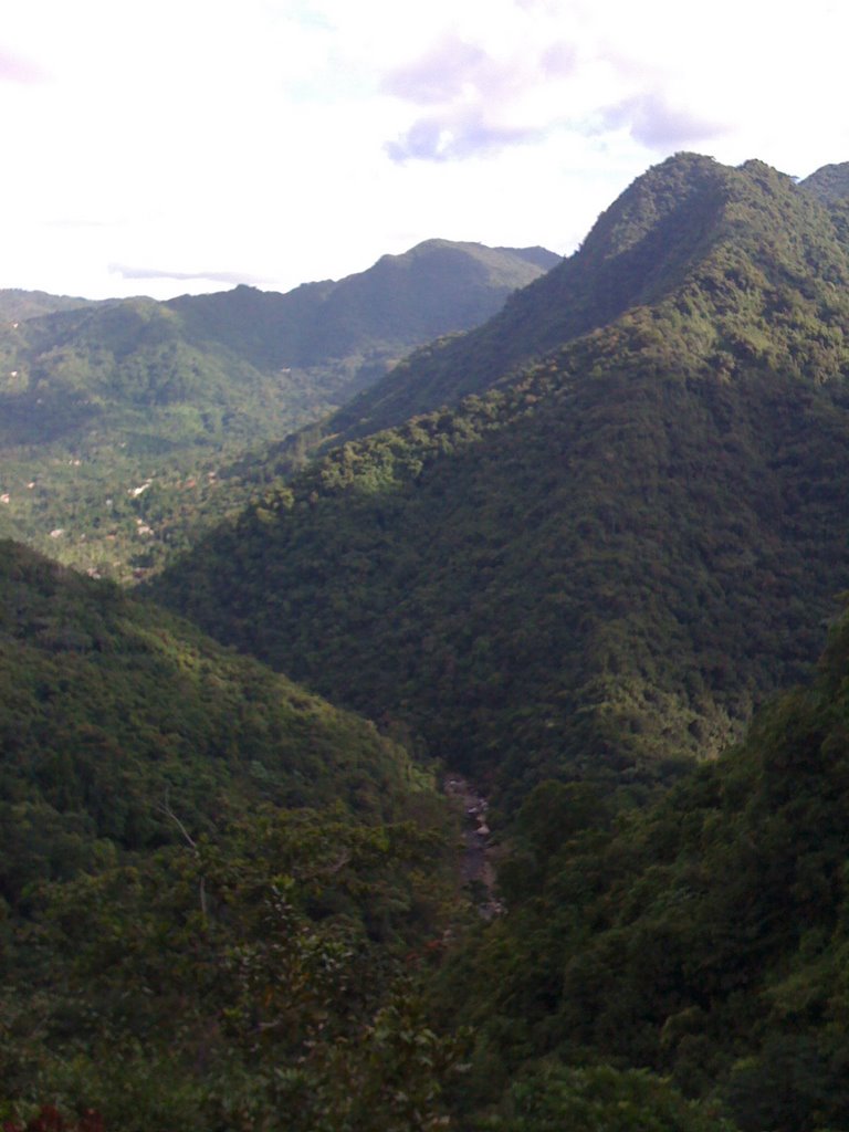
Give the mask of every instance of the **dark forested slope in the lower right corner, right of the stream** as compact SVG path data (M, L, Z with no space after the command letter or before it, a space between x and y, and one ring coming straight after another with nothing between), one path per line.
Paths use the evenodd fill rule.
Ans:
M511 915L439 990L480 1027L468 1094L529 1057L609 1062L724 1099L746 1132L847 1126L847 672L844 617L811 687L626 822L574 787L526 799Z

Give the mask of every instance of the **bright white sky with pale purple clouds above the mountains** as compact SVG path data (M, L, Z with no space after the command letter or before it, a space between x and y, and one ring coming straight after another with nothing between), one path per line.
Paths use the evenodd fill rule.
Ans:
M0 288L288 291L434 237L575 249L689 149L849 161L849 6L8 0Z

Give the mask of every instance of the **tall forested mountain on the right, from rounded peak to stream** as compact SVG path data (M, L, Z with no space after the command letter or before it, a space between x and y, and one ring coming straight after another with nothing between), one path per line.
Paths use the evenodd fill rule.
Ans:
M522 293L524 341L603 325L453 413L343 445L156 591L514 799L719 751L813 661L849 566L831 214L758 162L684 156L571 264L564 292L565 267ZM560 293L595 301L575 316Z

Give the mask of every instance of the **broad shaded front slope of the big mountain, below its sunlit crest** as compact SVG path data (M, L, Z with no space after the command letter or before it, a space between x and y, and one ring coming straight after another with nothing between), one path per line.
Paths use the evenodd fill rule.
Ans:
M342 446L157 597L516 797L717 753L841 585L842 394L588 353Z

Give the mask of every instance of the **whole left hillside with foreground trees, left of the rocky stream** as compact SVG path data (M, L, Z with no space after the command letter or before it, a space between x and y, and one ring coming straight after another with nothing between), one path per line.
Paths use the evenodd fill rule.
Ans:
M436 1120L460 1046L405 957L458 902L403 748L12 543L0 743L5 1127Z

